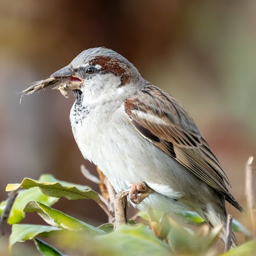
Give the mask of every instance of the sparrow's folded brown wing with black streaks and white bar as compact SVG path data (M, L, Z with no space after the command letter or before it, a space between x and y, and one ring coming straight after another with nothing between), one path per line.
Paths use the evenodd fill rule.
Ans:
M127 99L124 107L135 129L143 137L242 210L226 188L224 180L227 184L229 181L219 161L194 120L175 98L148 84L136 96Z

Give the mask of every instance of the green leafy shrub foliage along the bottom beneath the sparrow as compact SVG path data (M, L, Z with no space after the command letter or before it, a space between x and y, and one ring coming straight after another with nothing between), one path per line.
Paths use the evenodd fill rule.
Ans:
M8 219L8 223L12 224L10 249L17 242L32 240L42 255L216 254L212 245L218 239L221 226L205 234L205 226L202 225L196 232L179 224L180 219L164 217L151 210L138 214L144 224L136 220L115 230L111 223L95 227L51 207L60 197L69 200L92 199L101 203L100 196L90 187L59 181L52 175L42 175L38 181L25 178L20 184L8 184L6 190L20 188ZM6 201L0 204L1 214L5 206ZM36 212L48 225L17 224L29 212ZM182 219L189 224L203 224L203 219L191 211L183 212ZM234 221L233 229L246 237L250 235L237 221ZM49 237L51 243L63 252L38 237ZM223 255L249 255L255 249L256 241L253 240Z

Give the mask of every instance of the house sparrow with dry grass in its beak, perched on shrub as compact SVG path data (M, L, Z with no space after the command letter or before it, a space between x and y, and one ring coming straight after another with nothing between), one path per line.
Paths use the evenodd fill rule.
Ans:
M51 78L79 82L70 113L75 140L116 192L131 188L132 202L142 210L195 210L211 227L223 224L224 239L225 200L243 209L196 123L174 97L102 47L81 52Z

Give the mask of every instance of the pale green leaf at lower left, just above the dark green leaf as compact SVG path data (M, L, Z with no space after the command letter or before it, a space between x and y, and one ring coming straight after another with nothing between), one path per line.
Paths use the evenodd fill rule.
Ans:
M9 238L9 246L11 247L17 242L23 242L33 239L39 234L46 236L52 232L60 231L61 228L45 226L45 225L32 225L32 224L14 224L12 225L12 232Z

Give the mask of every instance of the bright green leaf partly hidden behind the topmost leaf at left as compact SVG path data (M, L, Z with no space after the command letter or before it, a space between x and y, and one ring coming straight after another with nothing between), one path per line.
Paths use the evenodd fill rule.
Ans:
M40 182L43 181L55 181L56 179L52 175L41 175L39 178ZM45 205L51 206L58 201L58 198L48 197L43 194L38 187L32 187L28 190L21 190L18 192L18 195L15 199L15 202L12 206L8 224L15 224L22 221L25 218L23 208L30 201L37 201L44 203ZM0 215L3 214L3 211L6 207L7 200L0 203Z

